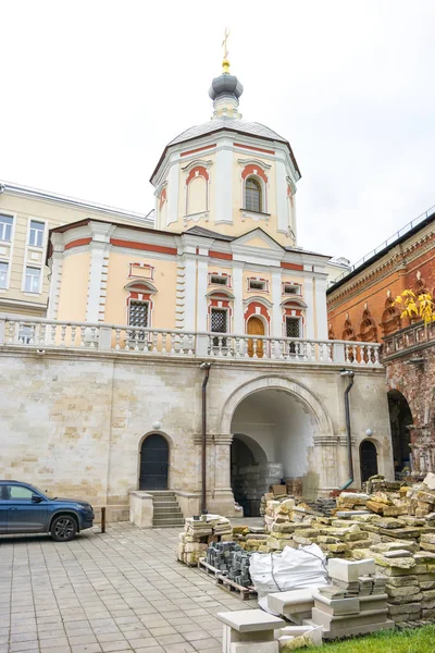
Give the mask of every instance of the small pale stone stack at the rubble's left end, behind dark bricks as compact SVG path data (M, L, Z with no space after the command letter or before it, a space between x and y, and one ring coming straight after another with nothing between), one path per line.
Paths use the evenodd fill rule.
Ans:
M211 542L233 540L229 519L220 515L201 515L199 519L186 519L184 531L178 535L177 559L186 565L196 566L200 557L206 556Z

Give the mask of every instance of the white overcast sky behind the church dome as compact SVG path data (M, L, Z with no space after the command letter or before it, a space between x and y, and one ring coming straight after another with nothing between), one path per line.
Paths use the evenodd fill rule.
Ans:
M244 118L302 173L299 245L355 262L435 205L434 0L0 0L0 24L3 181L153 208L227 25Z

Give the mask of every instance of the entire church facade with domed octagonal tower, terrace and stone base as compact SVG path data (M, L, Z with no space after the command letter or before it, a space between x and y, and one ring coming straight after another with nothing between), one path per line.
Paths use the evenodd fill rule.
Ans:
M212 120L164 148L154 227L50 231L47 318L0 316L0 477L124 518L135 490L173 490L187 516L256 514L283 479L358 486L368 438L391 475L380 346L327 338L330 257L297 245L298 164L241 120L241 93L224 66Z

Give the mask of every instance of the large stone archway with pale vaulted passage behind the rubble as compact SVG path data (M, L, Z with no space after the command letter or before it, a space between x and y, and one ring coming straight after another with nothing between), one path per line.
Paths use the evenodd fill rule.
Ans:
M244 438L248 446L256 443L266 454L259 464L249 446L252 459L241 481L238 470L238 486L244 488L250 514L258 512L269 485L282 479L301 481L306 496L337 484L337 439L331 418L319 397L301 383L277 375L248 381L227 398L221 430ZM325 464L330 459L334 463Z

